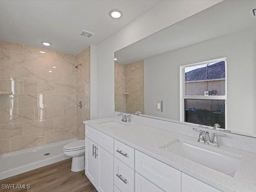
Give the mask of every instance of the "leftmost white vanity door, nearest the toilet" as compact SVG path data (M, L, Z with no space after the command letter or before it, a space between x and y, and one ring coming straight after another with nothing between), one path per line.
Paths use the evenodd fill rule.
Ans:
M93 152L96 150L96 144L86 138L86 176L94 186L98 186L98 158L95 158Z

